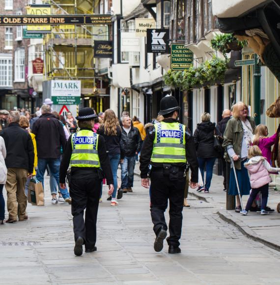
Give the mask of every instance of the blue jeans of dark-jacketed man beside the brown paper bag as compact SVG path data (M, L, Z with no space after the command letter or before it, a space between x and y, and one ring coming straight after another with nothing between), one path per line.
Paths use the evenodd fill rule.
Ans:
M42 182L44 187L44 174L47 169L47 166L50 170L50 175L53 175L56 179L56 183L58 185L58 189L62 194L64 199L69 198L69 192L67 189L62 189L59 187L59 166L60 166L60 159L59 158L39 158L38 157L38 169L36 173L36 178ZM53 189L51 189L53 191ZM52 194L56 194L52 193Z

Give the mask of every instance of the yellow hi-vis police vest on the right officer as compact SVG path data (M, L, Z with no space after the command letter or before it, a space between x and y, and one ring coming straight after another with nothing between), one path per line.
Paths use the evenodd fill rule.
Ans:
M177 122L160 122L155 124L155 130L151 161L159 163L186 163L186 126Z

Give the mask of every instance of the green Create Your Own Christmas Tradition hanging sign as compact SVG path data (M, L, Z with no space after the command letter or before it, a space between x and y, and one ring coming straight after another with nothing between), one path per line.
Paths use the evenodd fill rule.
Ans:
M170 67L172 70L185 70L193 65L194 54L184 44L171 44Z

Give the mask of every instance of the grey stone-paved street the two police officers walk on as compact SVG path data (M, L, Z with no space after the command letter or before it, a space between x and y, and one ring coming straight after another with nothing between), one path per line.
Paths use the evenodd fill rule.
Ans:
M190 197L182 253L169 255L167 243L161 253L153 250L149 196L140 178L117 207L104 187L97 252L77 257L71 207L52 205L48 194L45 206L28 204L27 222L1 226L0 284L279 284L279 252L226 224L211 203Z

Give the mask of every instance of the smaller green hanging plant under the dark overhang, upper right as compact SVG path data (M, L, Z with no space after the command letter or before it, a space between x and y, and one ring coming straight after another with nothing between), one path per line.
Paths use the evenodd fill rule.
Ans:
M220 51L224 57L226 57L226 54L231 51L231 48L229 46L230 43L236 43L236 47L239 49L242 49L244 46L247 45L247 41L239 41L235 36L233 36L231 33L221 33L216 34L215 37L211 40L211 47L215 51Z

